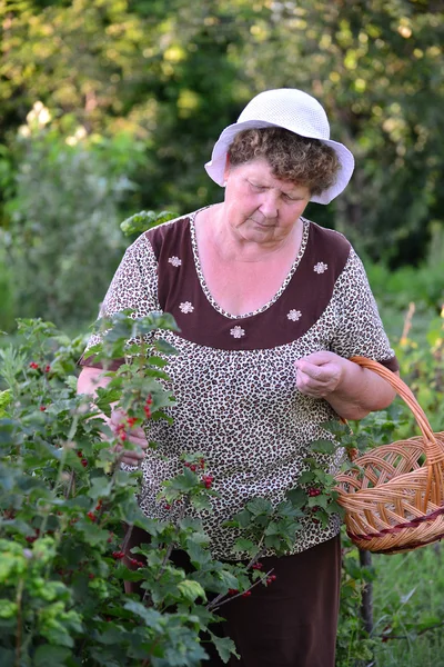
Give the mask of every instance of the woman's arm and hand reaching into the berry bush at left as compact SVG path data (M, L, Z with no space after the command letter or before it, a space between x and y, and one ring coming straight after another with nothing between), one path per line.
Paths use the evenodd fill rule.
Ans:
M101 368L92 368L91 366L84 366L79 376L77 384L78 394L88 394L89 396L95 396L98 387L107 387L111 378L104 375ZM125 424L127 415L123 410L112 410L111 417L102 415L103 420L108 424L110 429L115 434L119 425ZM132 445L138 446L138 450L122 450L121 461L128 466L139 466L140 461L144 458L144 450L148 447L148 440L145 432L142 427L128 427L125 430L128 441ZM119 446L122 449L121 446Z

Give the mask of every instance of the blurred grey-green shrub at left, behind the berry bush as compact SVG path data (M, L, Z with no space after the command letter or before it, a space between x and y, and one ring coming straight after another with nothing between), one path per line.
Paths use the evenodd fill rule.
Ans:
M80 138L72 145L68 139L40 129L18 142L4 241L16 317L78 327L98 312L127 245L119 205L134 187L130 176L139 152L119 137Z

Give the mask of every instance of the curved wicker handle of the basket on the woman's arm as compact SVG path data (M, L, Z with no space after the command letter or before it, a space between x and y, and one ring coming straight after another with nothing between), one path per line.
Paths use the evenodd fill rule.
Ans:
M433 434L432 427L428 422L428 419L425 416L424 410L417 402L412 390L407 387L407 385L403 382L403 380L398 376L389 370L389 368L385 368L385 366L382 366L382 364L379 364L377 361L373 361L373 359L355 356L350 357L349 361L353 361L362 368L367 368L369 370L372 370L393 387L396 394L398 394L398 396L412 410L416 424L418 425L421 432L424 436L424 448L427 461L431 464L436 462L437 460L441 461L443 459L443 452L436 444L436 439Z

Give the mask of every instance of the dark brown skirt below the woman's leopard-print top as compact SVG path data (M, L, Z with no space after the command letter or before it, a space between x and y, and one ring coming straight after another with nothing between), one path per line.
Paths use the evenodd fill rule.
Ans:
M134 529L128 549L148 541ZM173 560L186 567L186 555ZM231 637L240 659L230 667L334 667L341 584L341 540L330 539L301 554L263 558L263 570L273 569L270 586L256 586L251 596L230 600L219 614L225 619L212 631ZM223 667L214 647L204 644L210 660Z

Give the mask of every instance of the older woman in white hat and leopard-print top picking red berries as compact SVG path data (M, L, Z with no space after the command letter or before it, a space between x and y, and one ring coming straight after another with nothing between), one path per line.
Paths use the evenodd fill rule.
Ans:
M168 367L173 424L139 429L132 440L140 449L123 460L141 461L141 508L168 519L157 501L162 481L182 469L184 451L204 454L220 492L204 516L214 557L233 560L222 524L249 499L278 504L297 486L323 422L361 419L393 400L384 380L347 360L362 355L397 370L362 262L342 235L302 217L309 201L340 195L353 166L311 96L260 93L205 166L225 188L223 201L141 235L104 299L102 315L168 311L180 327L159 332L179 352ZM103 381L88 364L82 392ZM233 665L333 667L339 531L339 520L324 528L307 515L289 555L264 559L273 586L225 605L241 656Z

